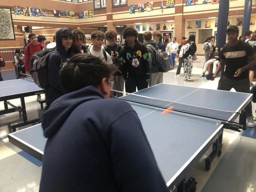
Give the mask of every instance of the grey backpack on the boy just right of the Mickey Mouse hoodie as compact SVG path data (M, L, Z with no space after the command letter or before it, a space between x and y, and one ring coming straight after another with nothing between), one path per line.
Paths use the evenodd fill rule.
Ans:
M148 44L147 46L153 49L156 53L155 59L157 64L157 70L163 73L171 70L170 58L168 54L166 52L163 52L162 49L155 49L154 46L152 46L151 44Z

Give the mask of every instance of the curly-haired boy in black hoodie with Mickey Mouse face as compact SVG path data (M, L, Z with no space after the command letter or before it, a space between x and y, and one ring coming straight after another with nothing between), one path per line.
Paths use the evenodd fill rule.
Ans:
M120 53L120 61L125 91L128 93L134 93L136 87L138 90L147 88L149 82L148 49L137 40L137 37L136 29L128 27L124 30L125 44Z

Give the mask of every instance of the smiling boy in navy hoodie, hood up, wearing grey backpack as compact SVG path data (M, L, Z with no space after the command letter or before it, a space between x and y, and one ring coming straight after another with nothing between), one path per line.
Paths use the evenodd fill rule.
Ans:
M71 58L71 45L73 34L67 28L61 28L56 32L56 50L48 58L48 85L46 89L47 105L51 105L55 99L64 95L61 81L58 77L59 70Z

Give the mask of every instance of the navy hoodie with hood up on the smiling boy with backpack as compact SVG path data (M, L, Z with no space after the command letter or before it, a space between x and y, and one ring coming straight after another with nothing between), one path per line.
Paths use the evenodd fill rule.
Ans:
M48 85L46 89L47 93L47 103L51 105L51 103L58 99L60 96L64 95L64 91L61 88L61 81L58 77L58 73L63 63L66 63L71 58L71 48L66 51L62 45L61 33L67 28L61 28L58 30L56 35L56 48L60 53L61 57L58 53L52 52L48 58ZM62 59L62 64L61 64Z

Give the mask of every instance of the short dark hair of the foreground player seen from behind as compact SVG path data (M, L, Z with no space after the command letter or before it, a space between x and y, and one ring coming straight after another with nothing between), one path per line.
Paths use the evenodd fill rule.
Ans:
M70 93L89 85L97 87L103 78L109 79L114 73L114 65L105 64L88 53L80 53L61 68L59 78L64 91Z

